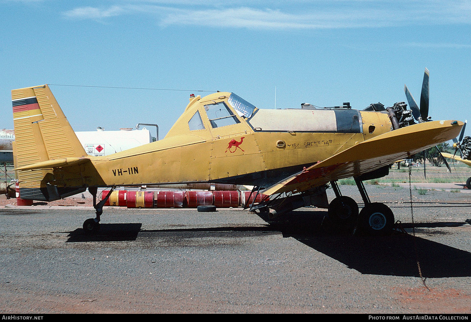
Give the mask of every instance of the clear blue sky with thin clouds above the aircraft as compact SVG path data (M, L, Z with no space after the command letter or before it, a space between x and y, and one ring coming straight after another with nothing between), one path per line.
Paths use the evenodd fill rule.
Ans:
M418 101L471 120L469 0L0 0L0 128L10 90L71 84L229 91L260 108ZM76 131L158 123L191 92L52 86ZM208 93L194 92L202 96Z

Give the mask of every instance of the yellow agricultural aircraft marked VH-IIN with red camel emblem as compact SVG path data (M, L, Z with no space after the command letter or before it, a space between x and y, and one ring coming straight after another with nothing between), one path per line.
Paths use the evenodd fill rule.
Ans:
M12 90L12 103L21 198L53 201L88 188L97 214L83 224L89 233L99 229L103 204L116 186L221 183L253 185L252 193L268 195L251 205L257 213L273 217L314 205L327 208L335 224L385 234L393 213L370 202L362 181L387 175L394 161L450 140L463 127L461 121L426 121L428 98L416 124L404 102L362 111L349 103L259 109L234 93L217 92L190 96L164 139L96 157L87 155L48 85ZM360 213L336 183L346 177L354 177L365 202ZM336 195L330 204L329 183ZM98 187L112 187L100 202Z

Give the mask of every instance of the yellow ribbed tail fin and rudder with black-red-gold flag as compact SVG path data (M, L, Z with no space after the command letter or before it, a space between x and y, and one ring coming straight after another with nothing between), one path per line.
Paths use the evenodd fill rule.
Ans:
M87 155L48 85L13 89L11 98L15 168ZM17 175L23 199L52 201L80 192L48 185L54 179L52 170L18 170Z

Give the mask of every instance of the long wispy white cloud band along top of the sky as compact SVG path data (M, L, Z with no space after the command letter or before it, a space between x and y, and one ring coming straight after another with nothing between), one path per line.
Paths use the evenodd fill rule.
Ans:
M138 3L140 2L140 3ZM147 0L150 2L160 2ZM446 3L430 0L410 2L386 2L389 6L351 5L367 1L338 0L336 6L311 5L303 12L290 9L272 8L203 8L192 9L188 6L162 7L143 4L142 0L126 1L126 4L110 8L81 7L66 11L64 16L73 19L106 19L123 14L146 13L154 16L161 26L195 25L217 28L249 29L325 29L325 28L363 28L388 27L398 25L430 24L470 24L471 5L467 1L450 0ZM162 0L162 2L165 2ZM213 2L213 1L209 1ZM217 1L214 1L217 2ZM319 1L316 3L325 3ZM338 3L350 5L339 6ZM368 2L376 2L374 0ZM400 3L401 6L394 7ZM184 7L184 9L183 9ZM198 6L201 7L201 6Z

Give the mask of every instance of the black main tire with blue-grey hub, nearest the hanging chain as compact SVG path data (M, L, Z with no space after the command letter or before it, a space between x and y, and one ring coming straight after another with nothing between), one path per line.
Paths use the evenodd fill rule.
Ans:
M390 234L394 227L394 214L392 210L381 202L365 205L360 211L358 220L360 228L372 236Z

